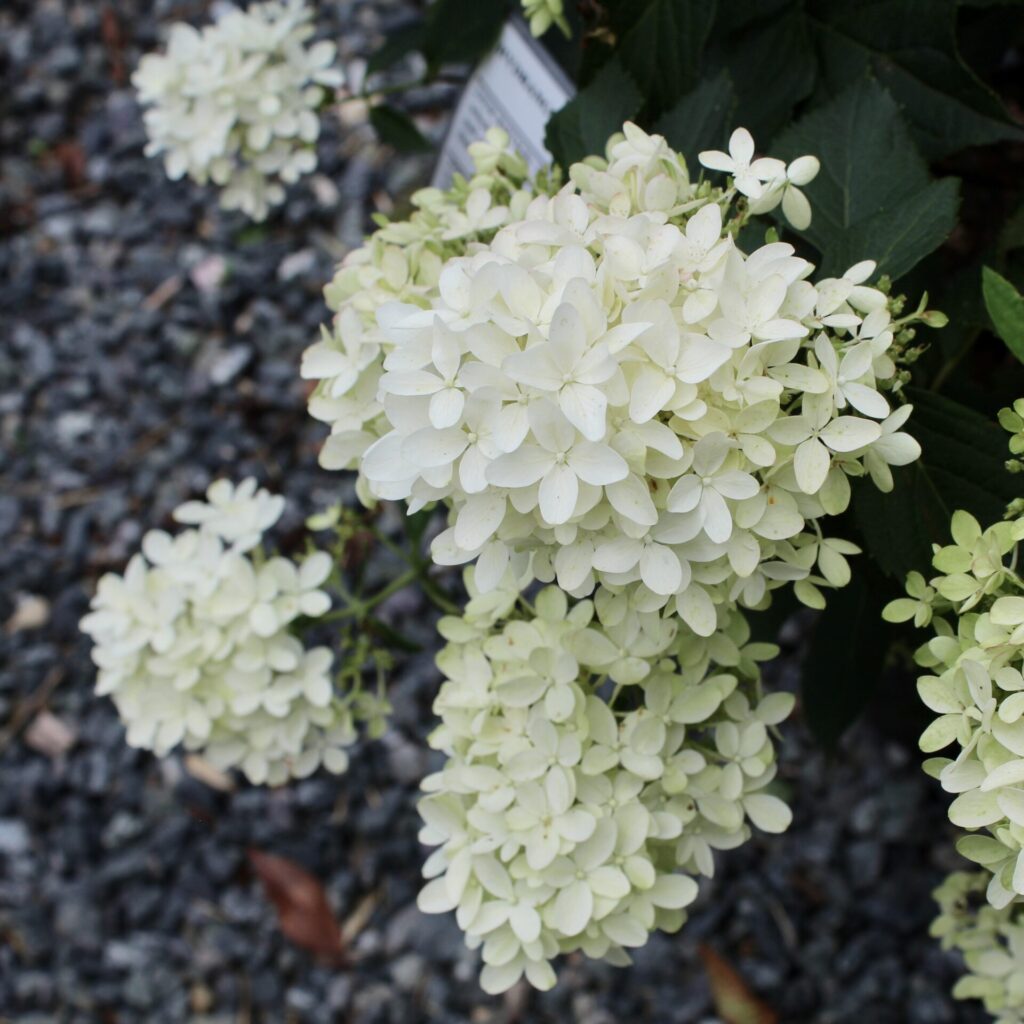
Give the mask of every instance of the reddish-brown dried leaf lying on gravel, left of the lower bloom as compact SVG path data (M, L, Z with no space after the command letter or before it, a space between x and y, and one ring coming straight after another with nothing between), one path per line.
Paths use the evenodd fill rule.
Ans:
M324 887L286 857L250 850L249 860L278 911L282 932L296 945L330 961L345 963L345 945Z

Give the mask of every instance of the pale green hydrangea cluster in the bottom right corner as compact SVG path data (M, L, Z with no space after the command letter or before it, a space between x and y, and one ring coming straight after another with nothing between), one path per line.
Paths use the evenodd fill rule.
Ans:
M941 913L932 935L964 954L956 998L981 999L995 1024L1024 1024L1024 916L1019 904L986 903L987 884L984 871L950 874L934 893Z

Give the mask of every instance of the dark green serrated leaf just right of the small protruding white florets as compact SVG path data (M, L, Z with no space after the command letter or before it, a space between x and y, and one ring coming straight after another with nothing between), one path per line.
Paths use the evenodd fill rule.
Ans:
M822 254L823 274L876 259L898 278L936 249L956 221L957 184L931 181L892 96L862 79L812 111L772 146L786 159L821 161L807 186L814 211L802 233Z

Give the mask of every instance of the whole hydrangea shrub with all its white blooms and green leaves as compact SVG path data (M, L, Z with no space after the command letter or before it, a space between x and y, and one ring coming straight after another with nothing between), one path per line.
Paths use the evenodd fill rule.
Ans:
M99 582L82 623L130 743L280 784L343 772L358 727L380 734L393 636L372 609L419 581L444 611L430 736L444 762L423 781L420 906L455 913L488 992L523 977L549 988L561 953L629 963L652 931L682 927L717 851L787 827L776 727L795 701L764 692L759 666L775 648L752 641L751 624L774 598L821 609L851 582L860 547L829 521L852 505L877 541L865 508L922 456L910 399L936 409L908 385L916 328L945 317L927 296L904 312L871 256L908 269L954 214L888 93L861 82L812 111L777 140L786 160L759 155L744 128L708 148L697 139L726 136L718 122L736 98L730 76L687 92L714 11L680 40L669 5L633 6L584 12L600 24L587 84L549 124L560 166L531 175L490 128L468 179L415 193L403 219L376 217L325 289L333 316L300 370L329 428L321 464L354 471L368 510L404 505L408 546L376 537L408 571L352 593L342 563L369 513L314 515L327 550L291 558L269 550L284 500L218 480L175 511L183 529L148 532L125 572ZM471 62L501 28L477 7L437 0L406 33L418 42L388 59L419 48L420 81ZM465 31L451 32L454 13ZM562 0L522 0L521 13L536 36L571 36L580 20ZM884 48L885 26L873 31ZM303 0L174 26L133 79L147 153L264 219L315 168L319 113L345 83L334 43L314 36ZM709 52L731 52L732 38ZM671 71L651 80L655 51ZM742 91L742 69L730 75ZM424 141L372 89L349 99L371 105L379 132L397 124L399 140ZM858 146L892 178L882 219L828 130L859 103L872 117ZM801 155L805 141L822 160ZM986 273L1016 351L1020 296ZM1021 401L999 421L1019 470ZM906 494L893 500L909 519ZM938 890L933 932L965 953L956 994L1000 1024L1024 1022L1022 512L1013 503L984 529L956 513L939 575L911 572L886 612L935 634L916 655L937 715L922 746L955 756L926 769L954 796L950 817L969 831L958 849L979 870ZM463 586L442 587L431 563L463 566Z

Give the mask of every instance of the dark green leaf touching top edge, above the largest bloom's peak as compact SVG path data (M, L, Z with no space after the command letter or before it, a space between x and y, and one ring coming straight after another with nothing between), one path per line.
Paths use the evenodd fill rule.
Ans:
M714 0L653 0L623 37L618 57L653 113L697 83Z

